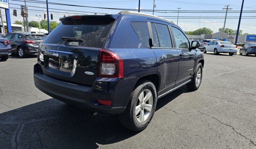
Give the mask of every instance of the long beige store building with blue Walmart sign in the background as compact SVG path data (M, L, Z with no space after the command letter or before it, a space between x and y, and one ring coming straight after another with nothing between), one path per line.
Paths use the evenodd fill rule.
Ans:
M190 39L201 41L203 39L219 39L221 40L222 32L217 32L213 34L201 34L201 35L187 35ZM229 41L231 43L235 42L236 35L228 35L224 33L223 40ZM256 35L238 35L237 42L239 43L251 43L256 42Z

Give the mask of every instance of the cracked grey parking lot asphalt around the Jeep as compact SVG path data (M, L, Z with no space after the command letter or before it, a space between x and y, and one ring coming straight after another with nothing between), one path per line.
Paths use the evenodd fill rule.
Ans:
M256 56L204 58L199 90L159 99L142 132L39 91L36 55L0 61L0 148L256 148Z

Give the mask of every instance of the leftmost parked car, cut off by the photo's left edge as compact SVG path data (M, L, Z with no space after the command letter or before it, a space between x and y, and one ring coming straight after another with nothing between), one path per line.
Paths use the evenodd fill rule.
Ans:
M12 54L10 41L0 37L0 59L7 60Z

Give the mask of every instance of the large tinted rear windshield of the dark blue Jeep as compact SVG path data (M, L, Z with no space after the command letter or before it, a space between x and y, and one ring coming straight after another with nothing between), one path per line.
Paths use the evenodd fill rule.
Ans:
M66 18L47 36L44 43L101 48L114 22L115 19L107 17ZM61 37L78 38L83 42L63 41Z

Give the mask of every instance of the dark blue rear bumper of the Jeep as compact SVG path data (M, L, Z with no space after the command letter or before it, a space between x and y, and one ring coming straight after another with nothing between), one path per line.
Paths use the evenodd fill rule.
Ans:
M39 90L70 105L98 113L123 113L134 87L129 87L132 86L129 79L123 78L97 78L92 87L71 84L42 74L40 67L39 64L34 66L34 83ZM96 99L112 100L112 105L99 106Z

